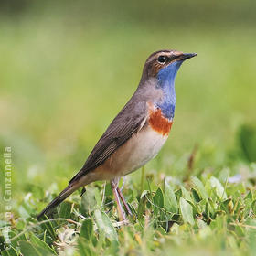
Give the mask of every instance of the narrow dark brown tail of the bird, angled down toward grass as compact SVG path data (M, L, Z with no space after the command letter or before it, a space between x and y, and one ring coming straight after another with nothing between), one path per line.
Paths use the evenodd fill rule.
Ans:
M69 184L68 187L66 187L64 190L62 190L59 193L59 196L54 198L46 208L44 208L38 215L37 215L37 219L40 219L42 216L44 216L45 214L48 215L54 208L56 208L57 206L59 206L59 204L64 201L67 197L69 197L76 189L78 189L78 187L72 183Z

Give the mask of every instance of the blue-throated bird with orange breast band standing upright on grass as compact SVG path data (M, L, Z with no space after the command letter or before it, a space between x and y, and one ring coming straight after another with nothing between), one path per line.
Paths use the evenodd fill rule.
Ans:
M195 56L197 53L164 49L146 59L141 80L131 99L102 134L80 171L37 219L49 216L74 191L98 180L110 181L119 219L127 220L121 201L127 213L132 215L118 187L119 180L144 166L165 144L175 116L176 73L185 60Z

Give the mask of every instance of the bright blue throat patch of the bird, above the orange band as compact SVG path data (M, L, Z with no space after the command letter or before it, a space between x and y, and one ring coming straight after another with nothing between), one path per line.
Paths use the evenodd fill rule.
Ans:
M176 109L176 90L175 79L176 72L183 61L175 61L169 64L164 69L161 69L156 78L158 80L157 87L161 88L164 92L164 99L157 102L156 106L159 107L165 118L173 119Z

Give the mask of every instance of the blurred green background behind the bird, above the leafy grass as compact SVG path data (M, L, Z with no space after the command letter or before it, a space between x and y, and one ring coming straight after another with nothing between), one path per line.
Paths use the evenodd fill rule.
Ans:
M255 7L1 1L0 144L13 149L15 200L29 183L65 187L132 96L145 59L163 48L198 56L179 70L175 125L146 171L175 176L196 144L198 168L232 161L240 125L256 121Z

